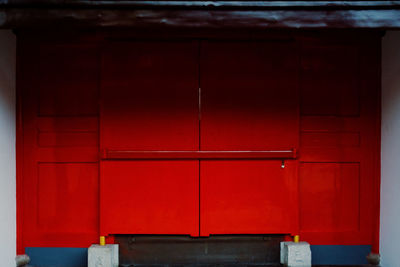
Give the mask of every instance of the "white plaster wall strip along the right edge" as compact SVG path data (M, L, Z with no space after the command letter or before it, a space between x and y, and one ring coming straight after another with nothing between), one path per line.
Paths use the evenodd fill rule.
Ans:
M381 134L381 265L384 267L399 267L400 31L388 31L382 40Z

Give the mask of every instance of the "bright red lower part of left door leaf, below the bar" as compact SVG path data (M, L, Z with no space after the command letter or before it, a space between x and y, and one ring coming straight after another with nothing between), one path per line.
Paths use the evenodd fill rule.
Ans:
M198 161L101 162L100 232L199 234Z

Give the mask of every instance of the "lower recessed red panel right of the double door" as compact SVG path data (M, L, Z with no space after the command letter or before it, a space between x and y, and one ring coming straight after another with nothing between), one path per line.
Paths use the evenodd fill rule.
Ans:
M302 231L359 231L359 163L303 163L299 188Z

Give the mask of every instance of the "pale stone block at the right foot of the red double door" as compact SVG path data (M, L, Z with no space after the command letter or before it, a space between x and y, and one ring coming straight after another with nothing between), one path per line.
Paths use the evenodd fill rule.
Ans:
M310 244L281 242L281 264L288 267L311 267Z

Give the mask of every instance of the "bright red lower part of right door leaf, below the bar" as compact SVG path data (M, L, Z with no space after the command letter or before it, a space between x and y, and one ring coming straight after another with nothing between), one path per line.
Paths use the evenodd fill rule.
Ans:
M296 162L200 162L200 235L293 233Z

